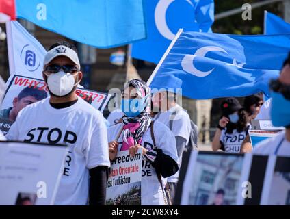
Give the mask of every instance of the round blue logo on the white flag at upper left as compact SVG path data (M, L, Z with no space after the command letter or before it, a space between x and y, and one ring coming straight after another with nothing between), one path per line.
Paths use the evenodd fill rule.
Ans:
M40 66L40 61L37 59L36 53L34 53L29 44L23 47L20 56L27 70L35 71Z

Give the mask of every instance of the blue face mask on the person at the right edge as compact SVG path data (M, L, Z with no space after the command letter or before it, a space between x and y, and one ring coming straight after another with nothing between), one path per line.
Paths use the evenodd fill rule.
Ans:
M279 92L272 92L271 119L276 127L290 125L290 101Z

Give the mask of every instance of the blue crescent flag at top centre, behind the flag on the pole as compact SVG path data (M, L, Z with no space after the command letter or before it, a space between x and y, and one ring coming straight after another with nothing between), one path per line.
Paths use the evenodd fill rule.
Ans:
M144 1L146 40L133 43L132 57L158 63L177 31L211 32L213 0Z

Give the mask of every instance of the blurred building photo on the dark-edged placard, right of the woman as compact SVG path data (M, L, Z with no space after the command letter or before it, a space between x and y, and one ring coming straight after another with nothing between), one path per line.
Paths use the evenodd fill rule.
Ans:
M237 205L243 173L249 160L243 155L193 151L183 181L181 205Z

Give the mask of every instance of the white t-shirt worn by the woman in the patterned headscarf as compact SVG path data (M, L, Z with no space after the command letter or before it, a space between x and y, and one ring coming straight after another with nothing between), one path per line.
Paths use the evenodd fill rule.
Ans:
M119 123L109 127L108 129L108 141L114 141L118 132L122 128L123 123ZM172 159L179 162L177 157L177 151L175 146L175 138L172 132L163 125L156 121L154 123L154 138L156 146L161 149L164 154L169 155ZM123 133L118 139L120 151L122 147ZM146 149L155 149L153 140L151 138L150 127L145 131L142 139L142 146ZM162 178L162 177L161 177ZM166 185L166 179L162 178L163 186ZM142 181L141 181L141 203L142 205L164 205L164 198L162 194L161 185L158 181L155 168L146 159L142 161Z

